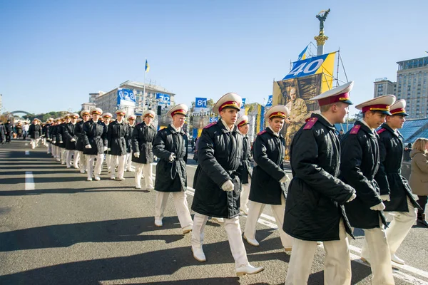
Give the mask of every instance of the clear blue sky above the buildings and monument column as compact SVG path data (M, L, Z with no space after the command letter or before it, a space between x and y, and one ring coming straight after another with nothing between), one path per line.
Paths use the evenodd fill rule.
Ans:
M143 82L145 58L147 80L177 103L227 92L262 103L328 8L325 52L340 47L355 103L372 98L375 78L395 81L397 61L428 56L426 0L0 0L4 110L79 110L88 93Z

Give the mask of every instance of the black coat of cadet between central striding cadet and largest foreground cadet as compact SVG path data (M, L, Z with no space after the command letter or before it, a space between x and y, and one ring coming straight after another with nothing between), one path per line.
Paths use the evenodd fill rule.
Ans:
M251 180L250 201L263 204L281 204L285 195L284 177L285 139L270 128L258 133L253 143L255 167Z

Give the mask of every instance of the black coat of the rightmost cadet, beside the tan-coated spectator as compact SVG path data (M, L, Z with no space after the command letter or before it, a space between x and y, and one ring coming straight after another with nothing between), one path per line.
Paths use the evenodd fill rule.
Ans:
M401 175L403 162L403 138L386 123L377 131L379 135L379 170L374 176L380 188L380 195L389 195L391 201L384 201L386 212L409 212L407 197L413 206L419 205L412 196L409 182Z

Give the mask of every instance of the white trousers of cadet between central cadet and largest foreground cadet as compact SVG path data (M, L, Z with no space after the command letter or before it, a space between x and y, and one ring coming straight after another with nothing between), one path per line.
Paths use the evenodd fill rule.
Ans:
M284 196L281 195L280 205L270 205L270 207L272 208L273 217L275 218L278 230L280 231L282 247L292 247L293 238L286 234L282 229L285 212ZM249 239L255 239L255 226L260 215L263 213L263 209L265 209L265 204L251 201L250 209L248 210L247 222L245 223L245 237L248 237Z

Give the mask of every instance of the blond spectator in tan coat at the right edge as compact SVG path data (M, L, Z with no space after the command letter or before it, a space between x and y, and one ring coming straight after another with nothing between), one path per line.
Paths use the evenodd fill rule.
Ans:
M409 185L413 194L419 197L417 203L422 209L417 210L417 224L422 227L428 227L425 220L425 206L428 196L428 139L418 138L413 143L413 150L410 152L412 157L412 172L410 173Z

